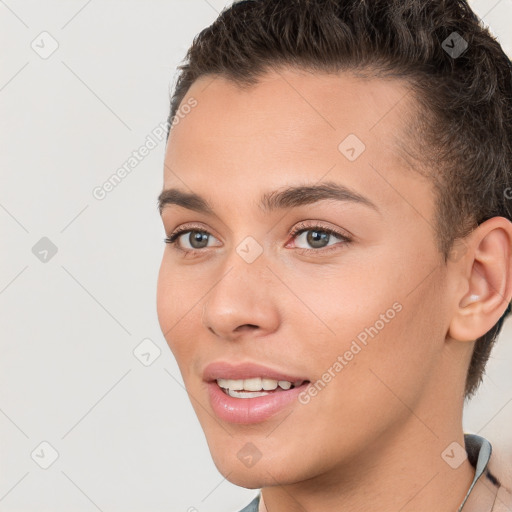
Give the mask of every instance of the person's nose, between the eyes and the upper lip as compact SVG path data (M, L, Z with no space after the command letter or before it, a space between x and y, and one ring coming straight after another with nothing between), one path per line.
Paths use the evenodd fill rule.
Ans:
M280 315L276 283L270 282L271 277L272 272L263 261L258 264L235 261L205 298L204 327L216 337L229 341L275 331Z

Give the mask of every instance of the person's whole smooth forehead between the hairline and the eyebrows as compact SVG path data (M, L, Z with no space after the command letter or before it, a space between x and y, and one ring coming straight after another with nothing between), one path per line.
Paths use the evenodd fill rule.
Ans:
M220 183L229 183L224 200L237 190L247 194L249 183L259 197L262 188L326 177L368 191L385 207L409 202L431 216L428 184L403 157L415 106L405 82L282 68L248 87L201 77L181 105L192 98L197 105L169 135L164 188L185 182L208 196L215 186L220 198ZM355 160L347 158L352 146ZM414 197L420 179L421 197ZM408 208L400 205L401 213Z

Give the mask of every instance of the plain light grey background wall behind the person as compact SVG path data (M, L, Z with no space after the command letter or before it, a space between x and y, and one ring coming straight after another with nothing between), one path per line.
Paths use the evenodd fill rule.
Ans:
M176 65L229 3L0 1L0 511L225 512L257 492L215 469L158 325L163 140L92 194L166 120ZM512 0L473 6L511 55ZM511 341L506 322L465 414L509 450Z

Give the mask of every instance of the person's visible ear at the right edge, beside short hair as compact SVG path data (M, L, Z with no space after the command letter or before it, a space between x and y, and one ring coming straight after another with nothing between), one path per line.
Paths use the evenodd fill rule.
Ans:
M465 240L464 258L453 263L460 270L448 336L474 341L500 319L512 297L512 222L492 217Z

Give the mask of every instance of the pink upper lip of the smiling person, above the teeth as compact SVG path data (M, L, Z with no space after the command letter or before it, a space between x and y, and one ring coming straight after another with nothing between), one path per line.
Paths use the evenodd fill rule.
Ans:
M290 375L280 370L273 370L267 366L256 363L238 363L232 364L227 361L217 361L206 366L203 372L203 379L206 382L212 382L217 379L250 379L252 377L261 377L264 379L287 380L288 382L297 382L308 380L300 375Z

